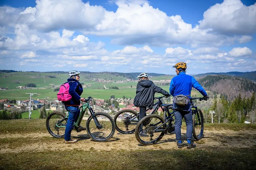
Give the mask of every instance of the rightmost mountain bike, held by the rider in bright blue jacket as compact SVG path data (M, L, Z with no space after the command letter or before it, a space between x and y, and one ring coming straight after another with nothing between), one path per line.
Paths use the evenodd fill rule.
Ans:
M202 111L196 107L196 100L206 100L204 98L191 98L190 103L192 107L192 123L193 123L193 137L195 140L200 140L204 133L204 117ZM175 129L174 112L170 112L172 105L164 105L164 118L159 115L147 115L143 117L136 125L135 137L143 145L151 145L160 141L167 132L172 132ZM139 136L139 127L143 126L144 132L148 137Z

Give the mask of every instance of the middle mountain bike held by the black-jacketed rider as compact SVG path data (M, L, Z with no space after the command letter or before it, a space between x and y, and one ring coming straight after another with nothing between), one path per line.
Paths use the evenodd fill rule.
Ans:
M159 109L159 107L162 108L164 111L163 107L161 106L163 104L162 97L156 97L154 100L158 100L154 105L153 105L153 111L151 114L155 114L156 111ZM151 110L152 108L148 108L148 110ZM137 113L134 110L131 109L124 109L116 113L114 117L114 122L116 124L116 130L120 133L123 134L132 134L135 131L136 125L138 124L139 120L139 113Z

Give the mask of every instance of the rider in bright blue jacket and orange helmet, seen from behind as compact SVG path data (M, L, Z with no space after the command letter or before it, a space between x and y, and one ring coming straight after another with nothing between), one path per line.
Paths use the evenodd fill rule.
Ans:
M170 84L170 94L175 98L177 95L184 95L190 98L191 89L194 87L198 90L203 96L204 99L209 99L204 88L196 81L196 79L192 76L186 75L187 64L180 62L173 66L176 68L176 74L174 78L171 80ZM178 148L182 148L187 146L187 148L194 148L196 144L193 143L191 140L192 138L192 108L190 102L187 105L179 105L177 102L173 102L172 109L174 111L175 116L175 134L177 139L177 146ZM186 126L187 126L187 143L181 141L181 120L185 118Z

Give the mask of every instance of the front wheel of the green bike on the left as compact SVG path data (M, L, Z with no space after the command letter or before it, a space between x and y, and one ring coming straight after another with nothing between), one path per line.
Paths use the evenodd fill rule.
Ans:
M115 133L116 125L114 120L110 115L103 112L95 113L94 117L99 122L99 126L96 126L93 117L90 116L86 122L87 133L92 140L105 142Z

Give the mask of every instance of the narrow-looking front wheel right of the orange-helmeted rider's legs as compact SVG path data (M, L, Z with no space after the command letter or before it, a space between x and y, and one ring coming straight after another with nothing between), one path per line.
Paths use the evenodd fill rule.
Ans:
M200 140L204 133L204 116L200 109L197 110L198 112L192 114L193 136L196 140Z

